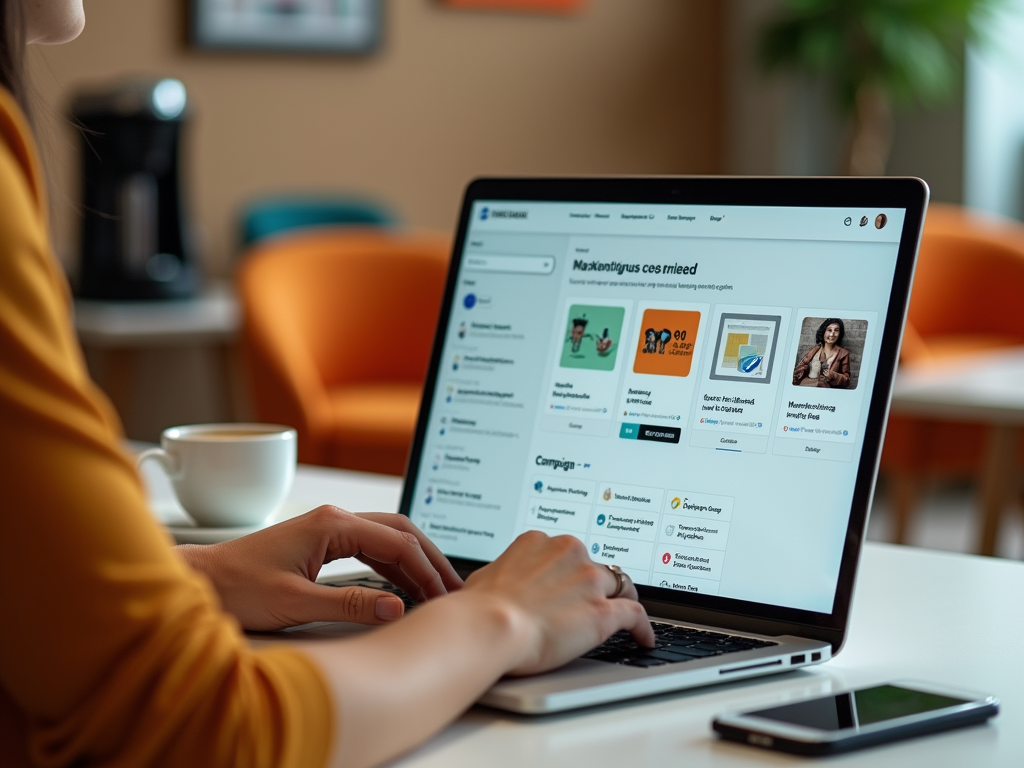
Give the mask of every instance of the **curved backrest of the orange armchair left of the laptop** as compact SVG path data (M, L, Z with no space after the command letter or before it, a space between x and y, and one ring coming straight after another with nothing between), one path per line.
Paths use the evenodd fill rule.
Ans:
M327 392L421 383L451 254L445 236L312 230L257 245L239 268L256 416L314 439Z

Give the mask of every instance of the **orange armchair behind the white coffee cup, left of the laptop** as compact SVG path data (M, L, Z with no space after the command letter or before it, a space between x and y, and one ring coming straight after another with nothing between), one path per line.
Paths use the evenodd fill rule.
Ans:
M404 471L451 241L370 229L267 241L238 274L261 421L299 433L299 461Z

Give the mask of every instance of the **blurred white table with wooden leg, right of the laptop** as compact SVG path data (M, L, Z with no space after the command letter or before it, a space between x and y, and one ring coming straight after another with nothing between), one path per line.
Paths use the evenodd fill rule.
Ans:
M994 554L1002 511L1020 480L1017 452L1024 431L1024 349L941 366L902 367L893 386L892 411L990 425L979 488L978 552Z

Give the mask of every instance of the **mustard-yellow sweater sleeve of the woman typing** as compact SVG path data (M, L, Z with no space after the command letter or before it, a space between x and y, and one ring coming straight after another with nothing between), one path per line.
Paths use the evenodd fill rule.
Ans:
M0 92L0 765L323 765L319 671L250 648L146 508L74 337L28 136Z

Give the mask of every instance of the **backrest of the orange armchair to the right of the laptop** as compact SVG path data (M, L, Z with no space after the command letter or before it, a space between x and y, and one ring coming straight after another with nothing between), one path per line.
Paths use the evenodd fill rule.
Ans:
M921 242L904 342L998 336L1024 344L1024 224L933 204ZM906 356L906 355L904 355Z

